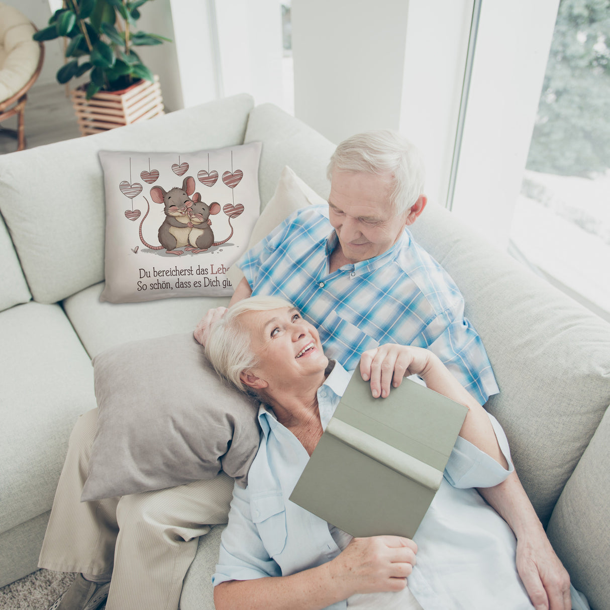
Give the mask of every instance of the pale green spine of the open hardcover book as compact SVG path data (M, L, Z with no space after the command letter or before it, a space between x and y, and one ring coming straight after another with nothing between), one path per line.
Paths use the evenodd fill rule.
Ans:
M439 489L440 481L443 478L443 473L440 470L400 451L400 449L392 447L392 445L384 443L382 440L376 439L367 432L354 428L354 426L342 422L336 417L331 418L328 422L326 432L356 451L360 451L380 464L412 479L412 481L434 492Z

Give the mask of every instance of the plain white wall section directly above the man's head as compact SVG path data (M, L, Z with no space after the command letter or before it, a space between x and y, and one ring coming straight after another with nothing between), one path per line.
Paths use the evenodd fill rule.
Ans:
M295 116L332 142L398 129L409 2L293 0Z

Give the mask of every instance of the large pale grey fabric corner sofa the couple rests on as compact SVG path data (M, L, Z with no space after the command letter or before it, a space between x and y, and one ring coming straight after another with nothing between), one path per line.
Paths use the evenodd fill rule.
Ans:
M284 165L327 196L334 145L248 95L0 157L0 586L37 568L77 415L96 406L91 357L189 332L226 298L99 301L104 191L97 151L263 143L262 206ZM490 194L493 196L493 194ZM500 385L487 407L548 536L592 608L610 608L610 325L429 204L413 226L465 296ZM201 538L181 608L213 608L223 526Z

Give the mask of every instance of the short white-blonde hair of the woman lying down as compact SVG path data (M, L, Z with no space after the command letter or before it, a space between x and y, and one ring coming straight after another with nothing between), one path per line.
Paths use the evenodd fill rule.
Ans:
M240 375L256 367L259 361L240 317L251 311L269 311L281 307L292 307L292 304L279 296L251 296L229 307L223 317L210 326L206 356L218 375L243 392L249 392L249 388L243 384Z

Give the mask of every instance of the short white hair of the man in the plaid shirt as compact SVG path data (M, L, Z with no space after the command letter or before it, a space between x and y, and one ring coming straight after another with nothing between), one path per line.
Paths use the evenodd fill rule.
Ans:
M334 171L390 174L390 204L399 215L423 194L425 168L419 151L402 135L388 129L366 131L343 140L326 169L329 180Z

